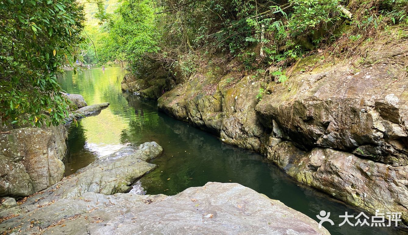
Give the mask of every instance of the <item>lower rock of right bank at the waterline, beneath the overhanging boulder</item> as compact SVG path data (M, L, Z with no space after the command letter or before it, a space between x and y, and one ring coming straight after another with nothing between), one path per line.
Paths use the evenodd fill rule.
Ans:
M267 157L299 182L372 214L401 212L408 221L408 166L389 166L333 149L303 152L289 141L269 148Z

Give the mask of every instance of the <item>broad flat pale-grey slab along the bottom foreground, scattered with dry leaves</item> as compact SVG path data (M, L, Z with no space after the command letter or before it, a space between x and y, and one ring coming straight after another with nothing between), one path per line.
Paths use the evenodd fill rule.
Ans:
M3 221L2 229L66 235L329 234L282 202L231 183L209 182L174 196L87 192L51 204L40 199L33 206L40 208Z

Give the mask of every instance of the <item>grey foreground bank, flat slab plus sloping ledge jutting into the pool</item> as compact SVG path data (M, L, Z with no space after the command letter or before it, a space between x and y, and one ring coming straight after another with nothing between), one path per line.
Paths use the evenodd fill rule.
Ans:
M313 219L239 184L209 182L174 195L136 195L129 185L156 166L155 142L126 146L75 175L0 208L6 234L329 234Z

